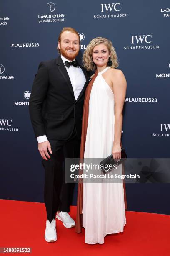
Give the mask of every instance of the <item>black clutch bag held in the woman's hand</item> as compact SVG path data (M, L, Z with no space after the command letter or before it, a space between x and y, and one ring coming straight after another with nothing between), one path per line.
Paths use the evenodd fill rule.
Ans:
M127 158L126 152L124 148L121 148L121 159L119 161L115 161L113 159L113 155L108 156L107 158L103 159L100 162L100 166L102 165L103 168L101 168L103 173L108 173L110 172L112 169L114 169L114 166L119 166L120 164L122 164ZM107 165L107 169L108 169L108 165L114 165L112 169L109 169L108 171L105 171L105 165Z

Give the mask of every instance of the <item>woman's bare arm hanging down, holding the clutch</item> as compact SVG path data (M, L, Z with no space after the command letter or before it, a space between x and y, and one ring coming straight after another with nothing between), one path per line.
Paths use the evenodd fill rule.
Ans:
M121 70L114 70L112 75L113 93L114 93L114 111L115 111L115 134L113 141L112 154L115 160L121 158L121 135L122 135L122 121L123 121L123 105L126 96L126 79Z

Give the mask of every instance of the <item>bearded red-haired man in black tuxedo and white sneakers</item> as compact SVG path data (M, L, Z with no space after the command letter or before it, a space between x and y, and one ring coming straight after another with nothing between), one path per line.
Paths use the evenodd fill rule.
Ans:
M63 28L58 38L57 59L41 62L30 97L30 118L45 168L44 200L47 211L45 240L57 240L55 216L66 228L70 217L73 184L65 184L65 158L79 158L82 109L87 73L75 57L80 37ZM57 212L57 215L56 215Z

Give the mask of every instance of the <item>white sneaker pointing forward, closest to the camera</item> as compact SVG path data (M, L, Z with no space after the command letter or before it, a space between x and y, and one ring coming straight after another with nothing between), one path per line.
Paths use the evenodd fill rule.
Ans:
M45 229L45 241L47 242L55 242L57 240L57 233L55 228L55 219L50 223L49 220L46 221L46 229Z

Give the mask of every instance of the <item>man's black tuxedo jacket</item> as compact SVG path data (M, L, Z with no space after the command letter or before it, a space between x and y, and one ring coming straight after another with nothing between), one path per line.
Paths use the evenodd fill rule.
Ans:
M40 63L29 103L30 118L36 137L46 135L47 139L66 141L75 127L77 137L81 138L82 110L88 76L85 68L81 65L80 68L86 82L75 100L61 56Z

